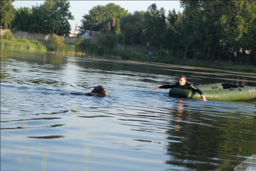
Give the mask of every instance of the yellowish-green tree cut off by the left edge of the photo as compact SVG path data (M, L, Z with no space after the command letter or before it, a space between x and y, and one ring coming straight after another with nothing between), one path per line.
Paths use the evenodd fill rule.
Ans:
M0 1L0 23L1 28L8 29L11 27L12 20L14 20L14 6L12 5L14 0L1 0Z

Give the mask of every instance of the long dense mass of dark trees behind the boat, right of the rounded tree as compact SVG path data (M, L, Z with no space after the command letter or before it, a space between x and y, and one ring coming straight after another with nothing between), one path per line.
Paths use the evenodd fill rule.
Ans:
M152 4L146 12L124 16L123 42L158 46L160 52L182 60L256 65L256 1L181 0L180 4L182 13L172 10L166 16L163 8Z

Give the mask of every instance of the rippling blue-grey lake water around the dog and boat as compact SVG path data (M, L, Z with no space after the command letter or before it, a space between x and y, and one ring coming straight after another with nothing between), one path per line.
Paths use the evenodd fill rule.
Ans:
M1 171L230 171L256 154L256 99L168 96L255 73L1 49ZM109 96L76 96L102 85ZM60 95L60 94L66 95Z

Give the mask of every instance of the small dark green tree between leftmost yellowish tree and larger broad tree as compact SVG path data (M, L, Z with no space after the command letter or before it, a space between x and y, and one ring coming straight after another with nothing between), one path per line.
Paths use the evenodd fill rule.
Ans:
M29 31L31 27L32 9L21 7L15 10L15 18L12 21L12 29Z

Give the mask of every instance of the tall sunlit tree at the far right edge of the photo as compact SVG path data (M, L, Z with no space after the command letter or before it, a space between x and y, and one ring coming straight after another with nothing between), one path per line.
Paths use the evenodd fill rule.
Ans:
M255 45L255 31L253 33L251 29L255 27L256 2L224 1L222 3L225 9L221 9L222 16L219 20L222 30L220 42L222 48L226 52L230 52L229 60L232 61L231 56L234 55L233 61L239 61L237 58L240 50L244 51L249 48L255 50L255 47L248 46L247 41L250 39L250 43ZM234 9L236 10L234 11ZM250 35L248 35L249 32ZM247 38L244 37L246 35L248 35Z

